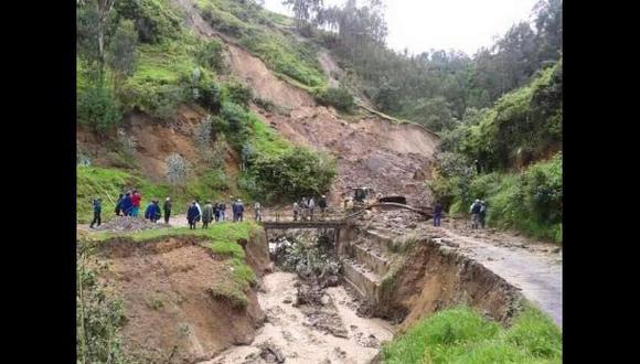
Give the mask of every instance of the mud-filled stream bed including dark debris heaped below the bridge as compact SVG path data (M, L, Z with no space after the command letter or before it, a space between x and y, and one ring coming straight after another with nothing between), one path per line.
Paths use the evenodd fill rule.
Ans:
M279 271L263 278L258 293L264 326L250 345L204 363L370 363L392 328L358 314L361 302L341 285L333 242L300 232L269 247Z

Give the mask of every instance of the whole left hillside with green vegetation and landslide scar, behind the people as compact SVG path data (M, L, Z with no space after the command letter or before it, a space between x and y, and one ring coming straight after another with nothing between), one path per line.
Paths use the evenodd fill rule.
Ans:
M105 24L100 11L78 4L78 161L92 164L78 167L79 221L90 197L109 211L131 188L178 212L228 195L339 203L358 185L429 203L438 137L327 88L326 51L291 19L225 0L121 0Z

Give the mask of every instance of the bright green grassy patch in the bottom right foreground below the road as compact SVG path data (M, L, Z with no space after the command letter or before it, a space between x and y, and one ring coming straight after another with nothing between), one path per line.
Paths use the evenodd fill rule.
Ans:
M509 329L469 308L423 319L383 347L385 363L562 363L562 333L526 308Z

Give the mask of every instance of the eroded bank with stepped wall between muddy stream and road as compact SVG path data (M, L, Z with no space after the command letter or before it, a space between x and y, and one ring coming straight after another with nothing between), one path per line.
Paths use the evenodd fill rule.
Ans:
M425 314L456 304L509 323L518 288L478 261L428 236L392 239L355 229L342 243L345 281L369 302L369 313L402 322L403 331Z

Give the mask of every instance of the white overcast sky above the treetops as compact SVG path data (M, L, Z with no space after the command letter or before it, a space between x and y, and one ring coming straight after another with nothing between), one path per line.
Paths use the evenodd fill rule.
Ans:
M344 0L324 0L342 4ZM387 44L409 53L461 50L473 55L493 43L514 23L531 20L537 0L384 0ZM265 8L291 15L282 0L265 0Z

